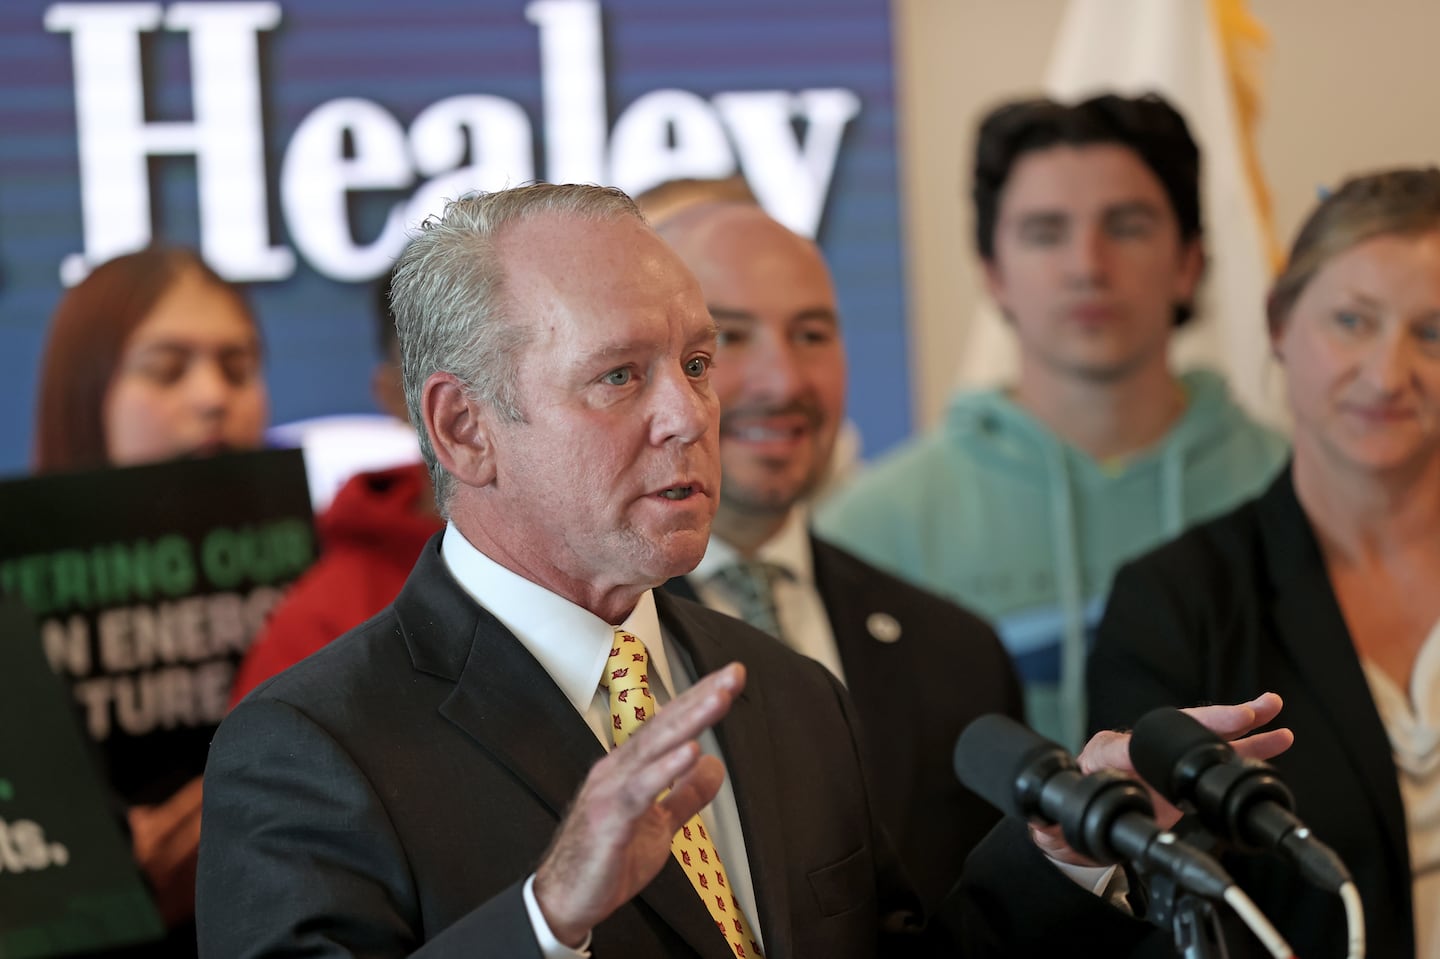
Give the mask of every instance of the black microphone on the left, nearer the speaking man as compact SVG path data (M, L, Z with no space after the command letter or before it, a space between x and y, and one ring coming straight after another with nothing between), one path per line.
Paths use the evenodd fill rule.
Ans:
M1207 899L1224 899L1234 886L1220 863L1155 824L1140 783L1116 770L1081 773L1064 749L1008 716L965 727L955 775L1008 815L1058 822L1070 848L1097 863L1133 861Z

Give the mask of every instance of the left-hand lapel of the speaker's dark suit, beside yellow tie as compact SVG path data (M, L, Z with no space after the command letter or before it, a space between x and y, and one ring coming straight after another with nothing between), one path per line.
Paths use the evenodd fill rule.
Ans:
M395 602L415 667L455 681L441 716L524 782L559 825L605 750L524 644L455 583L438 547L436 537ZM672 857L638 900L704 959L733 959Z

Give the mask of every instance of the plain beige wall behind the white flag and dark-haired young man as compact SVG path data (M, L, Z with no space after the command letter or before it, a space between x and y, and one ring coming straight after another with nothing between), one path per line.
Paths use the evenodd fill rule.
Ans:
M916 420L929 425L984 295L965 199L975 120L999 99L1040 91L1064 0L893 1L912 390ZM1272 37L1259 147L1282 242L1319 184L1440 163L1440 0L1251 0L1250 9Z

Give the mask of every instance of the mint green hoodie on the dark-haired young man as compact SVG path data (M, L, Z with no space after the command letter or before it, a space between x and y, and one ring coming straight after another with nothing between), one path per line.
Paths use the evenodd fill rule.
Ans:
M1031 724L1077 749L1084 659L1116 567L1256 495L1286 458L1214 373L1152 448L1100 464L1002 392L962 393L945 422L861 472L819 534L995 623Z

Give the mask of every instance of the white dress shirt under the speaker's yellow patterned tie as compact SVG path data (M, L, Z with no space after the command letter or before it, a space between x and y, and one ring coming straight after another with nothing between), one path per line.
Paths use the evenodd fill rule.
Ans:
M445 527L441 556L461 589L488 609L540 662L606 750L612 746L611 704L609 695L600 690L600 674L613 647L616 625L638 636L649 652L649 688L657 707L664 707L672 695L680 695L694 683L684 652L661 629L655 598L648 590L625 622L611 625L494 562L477 550L454 524ZM711 730L700 736L700 749L724 760ZM740 900L759 940L760 923L755 906L755 883L750 880L750 858L729 778L714 801L700 812L700 818L724 863L732 893ZM526 881L524 900L546 959L589 956L589 939L575 950L554 937L540 913L533 887L534 875ZM760 945L763 947L763 940Z

